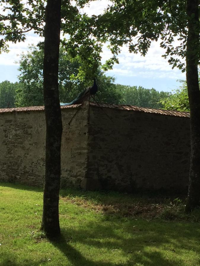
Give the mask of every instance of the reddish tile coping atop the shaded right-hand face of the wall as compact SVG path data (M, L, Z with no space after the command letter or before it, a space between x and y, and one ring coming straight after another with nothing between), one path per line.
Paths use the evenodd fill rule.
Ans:
M118 110L127 110L127 111L140 111L144 113L158 113L167 116L180 116L180 117L190 117L189 112L179 112L179 111L169 111L163 109L154 109L154 108L144 108L133 105L119 105L119 104L108 104L108 103L90 103L91 106L95 107L105 107L113 108Z

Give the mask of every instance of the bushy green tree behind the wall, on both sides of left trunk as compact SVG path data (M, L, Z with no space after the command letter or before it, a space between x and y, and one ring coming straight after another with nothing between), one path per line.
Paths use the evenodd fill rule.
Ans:
M30 46L27 53L20 58L19 80L22 85L17 90L16 106L44 105L43 99L43 43L39 47ZM79 63L72 60L68 53L60 48L59 59L59 90L61 102L68 102L73 98L77 85Z

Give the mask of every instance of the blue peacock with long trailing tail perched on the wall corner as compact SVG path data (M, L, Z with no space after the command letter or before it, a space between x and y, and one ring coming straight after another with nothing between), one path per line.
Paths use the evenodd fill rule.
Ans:
M93 86L88 87L87 89L79 93L76 99L71 101L71 103L60 103L60 106L83 103L89 97L89 94L95 95L95 93L97 93L97 90L98 90L97 83L96 80L94 79Z

